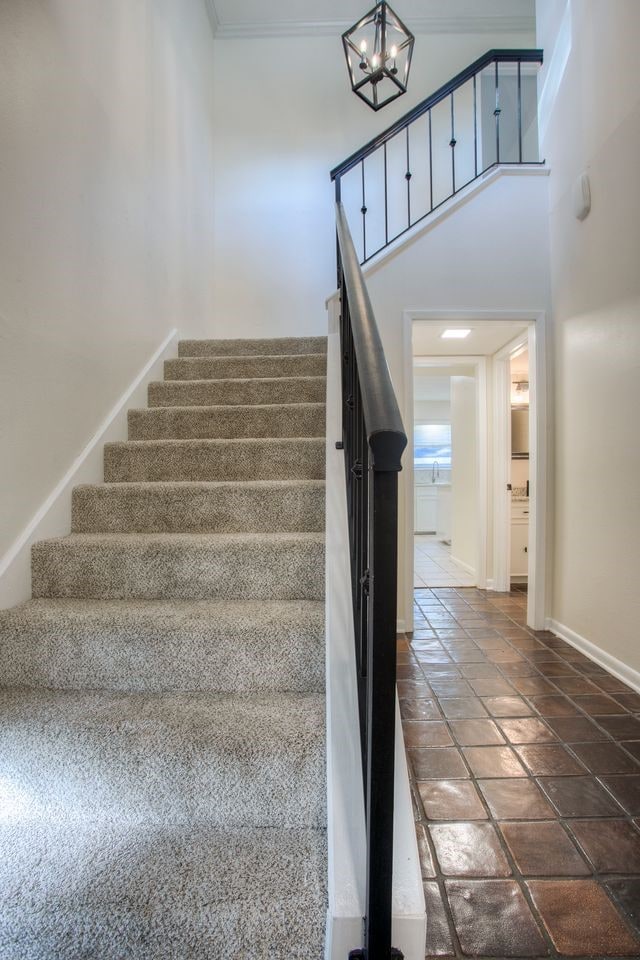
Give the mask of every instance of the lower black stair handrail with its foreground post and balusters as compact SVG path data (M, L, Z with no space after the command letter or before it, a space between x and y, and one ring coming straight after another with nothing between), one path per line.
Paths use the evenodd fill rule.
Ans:
M398 473L407 444L373 308L336 205L342 441L367 834L364 947L390 960L398 580Z

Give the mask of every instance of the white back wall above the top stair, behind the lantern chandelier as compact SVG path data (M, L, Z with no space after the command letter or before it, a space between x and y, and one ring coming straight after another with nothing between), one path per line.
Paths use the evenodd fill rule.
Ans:
M330 169L489 47L533 42L420 35L410 92L374 113L351 93L339 36L217 39L211 331L326 331L324 299L335 287ZM247 74L250 82L240 79Z

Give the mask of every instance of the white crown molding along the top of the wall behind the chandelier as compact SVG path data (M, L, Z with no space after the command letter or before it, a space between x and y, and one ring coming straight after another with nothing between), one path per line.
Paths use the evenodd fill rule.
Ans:
M206 0L206 3L214 33L220 38L334 37L352 26L348 20L254 20L249 23L221 23L215 9L215 0ZM533 33L535 17L412 17L408 26L415 34Z

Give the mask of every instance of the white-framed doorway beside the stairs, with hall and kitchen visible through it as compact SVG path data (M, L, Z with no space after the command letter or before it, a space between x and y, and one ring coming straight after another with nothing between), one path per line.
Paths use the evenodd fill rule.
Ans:
M504 314L405 311L404 316L405 429L412 453L406 458L403 478L405 609L413 607L414 584L421 588L444 587L448 585L447 577L454 588L475 585L481 589L509 591L512 588L511 551L517 548L526 568L523 571L521 562L520 572L513 574L513 585L520 583L528 587L527 624L543 629L547 489L544 315L518 311ZM458 330L468 333L443 337L446 331ZM526 370L518 369L525 361ZM443 402L446 390L442 381L456 376L467 399L473 396L475 403L473 413L467 404L466 419L463 419L463 427L473 425L475 452L473 444L466 448L466 453L465 448L458 445L458 453L462 454L458 460L458 476L467 482L466 514L454 509L456 430L452 429L451 462L444 470L442 463L434 463L439 460L435 453L442 453L442 448L432 448L430 454L428 450L421 451L419 436L420 428L429 421L437 425L438 418L434 417L437 407L433 404ZM436 386L438 379L440 384ZM450 379L450 422L451 382ZM512 391L517 392L513 403ZM433 401L430 409L421 403L429 397ZM513 460L512 407L517 411L526 408L529 425L529 449L516 450L520 456ZM443 410L441 407L440 412ZM421 459L426 462L420 463ZM419 490L420 470L423 471L422 491ZM447 527L437 519L437 498L440 495L446 501L447 481L451 490L450 537L446 536ZM430 506L421 505L420 492L423 502L431 499ZM436 520L434 523L432 519L428 529L424 529L425 516L434 517L434 499ZM469 509L470 505L473 509ZM514 510L522 516L514 518ZM446 517L446 508L444 515ZM515 519L519 521L517 529ZM463 535L466 535L466 547ZM446 543L449 539L451 545ZM405 629L410 631L411 627L412 623L405 621Z

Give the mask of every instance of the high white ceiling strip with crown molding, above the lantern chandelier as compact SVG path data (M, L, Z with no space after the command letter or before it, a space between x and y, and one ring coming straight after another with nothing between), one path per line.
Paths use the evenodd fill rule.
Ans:
M335 35L373 0L205 0L221 37ZM393 0L414 33L514 33L533 30L535 0Z

